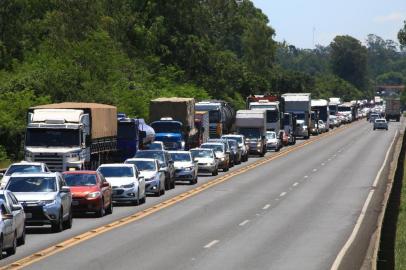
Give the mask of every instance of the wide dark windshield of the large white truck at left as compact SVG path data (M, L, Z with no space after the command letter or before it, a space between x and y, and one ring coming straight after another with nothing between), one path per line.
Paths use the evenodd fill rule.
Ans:
M26 146L60 146L72 147L80 145L78 129L27 129Z

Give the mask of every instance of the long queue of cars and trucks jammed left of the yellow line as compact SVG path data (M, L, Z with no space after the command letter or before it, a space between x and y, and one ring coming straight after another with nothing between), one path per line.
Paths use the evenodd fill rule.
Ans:
M103 104L30 108L25 160L2 175L0 256L25 243L26 226L60 232L74 214L103 217L117 204L143 204L178 183L194 185L250 155L366 117L369 107L308 93L251 95L236 112L220 100L159 98L150 103L149 124Z

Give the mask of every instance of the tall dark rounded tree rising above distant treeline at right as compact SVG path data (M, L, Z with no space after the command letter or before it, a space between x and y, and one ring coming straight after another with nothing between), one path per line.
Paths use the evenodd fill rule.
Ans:
M365 91L367 49L351 36L336 36L330 46L333 73Z

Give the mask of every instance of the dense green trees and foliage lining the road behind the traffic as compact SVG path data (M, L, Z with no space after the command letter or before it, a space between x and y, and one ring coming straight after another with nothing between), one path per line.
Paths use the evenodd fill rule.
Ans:
M335 46L342 37L302 50L274 34L249 0L0 1L0 145L18 158L26 110L40 103L100 102L148 118L158 96L220 98L236 108L264 92L351 100L371 96L378 76L399 75L384 73L405 74L404 55L388 43L391 53L379 58L350 37L343 51ZM356 53L346 53L353 44ZM348 59L360 51L362 59ZM365 54L375 57L373 72ZM345 74L346 65L339 72L336 59L361 77Z

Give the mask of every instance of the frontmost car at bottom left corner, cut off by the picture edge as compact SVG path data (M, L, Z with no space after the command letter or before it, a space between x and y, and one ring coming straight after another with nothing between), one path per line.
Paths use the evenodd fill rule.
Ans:
M0 199L0 259L3 251L7 256L14 255L17 251L17 230L15 217L4 200Z

